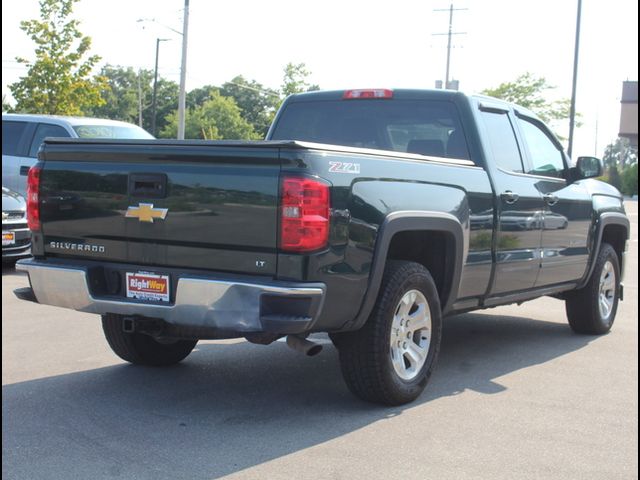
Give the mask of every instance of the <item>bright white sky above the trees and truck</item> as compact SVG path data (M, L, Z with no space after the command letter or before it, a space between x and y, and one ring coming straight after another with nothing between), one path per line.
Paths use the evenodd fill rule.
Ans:
M278 88L288 62L304 62L323 89L433 88L443 80L450 1L190 0L187 90L236 75ZM577 0L453 2L451 77L479 92L525 72L569 98ZM153 69L179 80L183 0L81 0L74 17L101 64ZM2 0L2 93L25 74L16 56L33 58L20 20L37 18L37 0ZM145 21L138 21L147 19ZM154 21L151 21L154 20ZM163 26L164 25L164 26ZM169 28L167 28L169 27ZM622 81L638 79L638 3L583 0L574 157L602 157L620 122ZM567 136L568 122L554 125Z

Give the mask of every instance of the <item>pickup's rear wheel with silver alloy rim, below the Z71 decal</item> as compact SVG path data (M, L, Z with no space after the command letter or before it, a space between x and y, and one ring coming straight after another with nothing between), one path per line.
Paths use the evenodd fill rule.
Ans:
M418 263L389 261L367 323L339 334L334 343L352 393L368 402L402 405L425 389L441 337L440 299L429 271Z

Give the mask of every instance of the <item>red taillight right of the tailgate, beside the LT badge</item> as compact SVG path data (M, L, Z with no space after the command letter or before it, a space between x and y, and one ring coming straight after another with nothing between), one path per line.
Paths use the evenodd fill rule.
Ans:
M329 186L302 177L282 180L280 199L280 248L310 252L329 240Z

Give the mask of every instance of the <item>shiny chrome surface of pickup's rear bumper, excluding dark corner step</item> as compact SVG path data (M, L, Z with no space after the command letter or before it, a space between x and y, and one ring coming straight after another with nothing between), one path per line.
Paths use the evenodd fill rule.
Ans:
M178 279L175 303L160 305L137 300L96 298L91 295L83 268L44 265L22 261L16 269L29 274L38 303L86 313L115 313L160 318L175 325L214 327L233 331L259 331L260 297L263 293L315 297L319 300L315 318L324 300L323 284L281 286L227 280L182 277Z

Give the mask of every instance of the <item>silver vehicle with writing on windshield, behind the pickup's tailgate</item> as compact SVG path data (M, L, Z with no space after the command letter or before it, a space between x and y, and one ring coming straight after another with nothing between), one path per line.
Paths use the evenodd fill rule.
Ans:
M142 128L126 122L88 117L53 115L2 115L2 186L27 194L27 173L36 163L46 137L153 138Z

